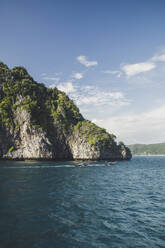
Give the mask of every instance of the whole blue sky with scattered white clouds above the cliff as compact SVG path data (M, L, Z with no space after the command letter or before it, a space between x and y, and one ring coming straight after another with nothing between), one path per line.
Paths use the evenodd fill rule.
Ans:
M0 0L0 60L126 144L165 142L164 0Z

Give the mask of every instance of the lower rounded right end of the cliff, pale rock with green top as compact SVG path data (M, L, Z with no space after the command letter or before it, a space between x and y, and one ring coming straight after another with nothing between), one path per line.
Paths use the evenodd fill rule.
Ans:
M122 143L117 145L115 136L108 134L90 121L79 122L69 137L73 158L93 160L127 160L131 153Z

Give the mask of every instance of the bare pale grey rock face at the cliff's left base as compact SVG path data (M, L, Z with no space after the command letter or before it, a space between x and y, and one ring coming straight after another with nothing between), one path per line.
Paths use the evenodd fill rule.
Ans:
M14 121L19 127L14 132L10 129L5 130L7 142L4 143L6 149L1 153L3 158L55 158L55 149L46 132L31 125L30 114L26 110L18 111L17 109Z

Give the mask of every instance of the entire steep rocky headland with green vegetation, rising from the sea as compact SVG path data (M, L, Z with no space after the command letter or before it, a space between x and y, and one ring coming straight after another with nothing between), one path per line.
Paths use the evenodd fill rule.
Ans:
M131 153L84 120L65 93L0 63L0 158L127 160Z

